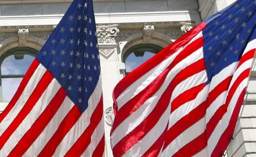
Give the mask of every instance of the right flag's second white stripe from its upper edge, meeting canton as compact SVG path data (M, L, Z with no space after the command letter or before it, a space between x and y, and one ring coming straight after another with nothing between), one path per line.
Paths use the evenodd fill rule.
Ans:
M161 95L163 94L163 92L165 92L166 88L176 76L176 74L187 66L193 64L194 62L197 62L201 58L203 58L202 49L198 49L198 51L195 51L191 55L187 56L187 58L177 63L177 65L173 67L172 70L170 70L170 72L166 76L165 81L163 81L163 84L154 94L154 96L147 99L147 101L145 101L144 104L140 106L140 108L138 108L125 120L123 120L123 122L120 123L118 127L116 127L115 131L113 131L111 135L112 147L114 147L120 140L122 140L123 137L125 137L132 130L134 130L141 122L143 122L145 118L147 118L148 115L150 115L152 110L155 108L155 105L157 105L159 99L161 98ZM127 126L129 126L129 128L127 128Z

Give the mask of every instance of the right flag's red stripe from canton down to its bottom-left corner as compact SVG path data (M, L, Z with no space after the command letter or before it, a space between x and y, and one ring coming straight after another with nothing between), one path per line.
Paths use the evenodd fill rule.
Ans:
M199 60L198 62L201 61ZM163 92L161 98L159 99L157 105L152 110L150 115L148 115L148 117L144 119L143 122L141 122L134 130L132 130L122 140L120 140L118 144L115 145L115 147L113 147L113 154L115 156L122 156L125 154L131 147L133 147L133 145L140 141L152 129L152 127L155 126L155 124L157 124L163 112L165 112L165 110L168 108L170 96L172 95L176 85L181 83L183 80L186 80L188 77L193 76L195 73L204 70L202 66L197 65L197 62L195 62L188 66L186 69L180 71L180 73L175 76L172 82L168 85L165 92ZM194 70L192 71L190 67L193 67Z

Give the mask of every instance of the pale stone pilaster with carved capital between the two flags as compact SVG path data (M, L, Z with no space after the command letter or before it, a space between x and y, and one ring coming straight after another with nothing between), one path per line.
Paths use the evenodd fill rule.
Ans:
M118 25L97 26L97 37L101 60L102 90L105 119L105 156L113 156L110 145L110 130L113 120L112 92L119 82L118 67Z

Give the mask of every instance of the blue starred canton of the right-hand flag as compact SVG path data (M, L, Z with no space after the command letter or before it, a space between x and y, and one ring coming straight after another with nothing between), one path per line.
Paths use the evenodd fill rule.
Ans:
M256 38L256 0L239 0L205 21L204 59L209 83L222 69L240 60Z

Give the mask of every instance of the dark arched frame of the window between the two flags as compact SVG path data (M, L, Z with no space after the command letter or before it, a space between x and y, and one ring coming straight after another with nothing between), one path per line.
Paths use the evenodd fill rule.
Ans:
M163 48L160 47L159 45L155 45L155 44L138 44L138 45L135 45L133 47L131 47L130 49L128 49L124 55L123 55L123 63L126 62L126 59L128 58L128 56L133 53L134 51L136 51L137 49L144 49L145 51L148 51L148 52L151 52L151 53L155 53L157 54L159 51L161 51ZM154 50L154 52L152 51ZM145 52L143 51L143 53ZM155 52L157 51L157 52ZM138 52L140 53L140 52ZM125 66L126 66L126 63L125 63ZM130 72L126 72L126 68L125 68L125 76L127 74L129 74Z

